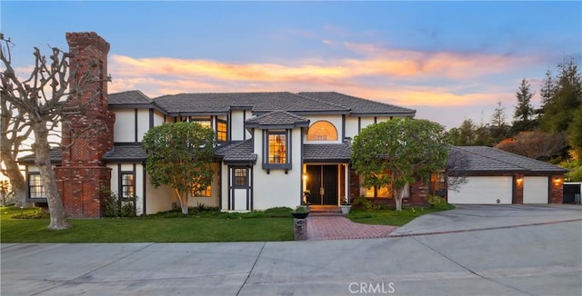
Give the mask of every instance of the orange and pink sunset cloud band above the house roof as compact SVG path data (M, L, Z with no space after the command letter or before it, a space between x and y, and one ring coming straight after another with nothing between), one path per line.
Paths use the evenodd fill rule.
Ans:
M324 41L332 44L333 41ZM163 94L259 91L337 91L404 106L492 105L515 90L485 81L531 64L536 57L422 52L376 44L337 44L351 58L309 58L280 63L226 63L114 54L110 92L139 89ZM436 83L436 81L438 83ZM517 84L516 84L517 87Z

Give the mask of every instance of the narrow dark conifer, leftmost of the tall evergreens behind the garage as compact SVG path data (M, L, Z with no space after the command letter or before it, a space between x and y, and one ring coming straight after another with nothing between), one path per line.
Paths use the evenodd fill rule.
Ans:
M535 113L536 110L531 104L531 98L535 93L530 91L529 82L526 79L521 81L516 93L517 105L513 113L513 133L531 131L536 127Z

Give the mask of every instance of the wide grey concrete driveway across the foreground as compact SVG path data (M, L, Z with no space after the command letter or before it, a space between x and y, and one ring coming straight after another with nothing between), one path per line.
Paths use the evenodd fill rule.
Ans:
M385 239L2 244L2 295L580 295L582 207L460 205Z

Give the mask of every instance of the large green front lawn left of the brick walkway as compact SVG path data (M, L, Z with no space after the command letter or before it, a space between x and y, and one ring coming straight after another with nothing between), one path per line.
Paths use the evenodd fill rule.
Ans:
M293 240L293 218L274 214L202 212L199 217L161 213L139 218L70 219L64 231L49 231L46 215L15 219L20 209L0 207L0 242L276 242ZM287 210L286 210L287 211ZM38 209L25 209L35 215ZM207 217L216 215L217 217ZM261 217L262 216L262 217Z

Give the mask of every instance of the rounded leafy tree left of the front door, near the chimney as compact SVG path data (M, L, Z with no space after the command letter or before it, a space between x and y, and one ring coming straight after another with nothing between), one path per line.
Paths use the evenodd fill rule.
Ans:
M215 135L199 123L165 123L147 131L146 172L158 187L172 187L182 213L188 214L188 193L205 189L214 172Z

